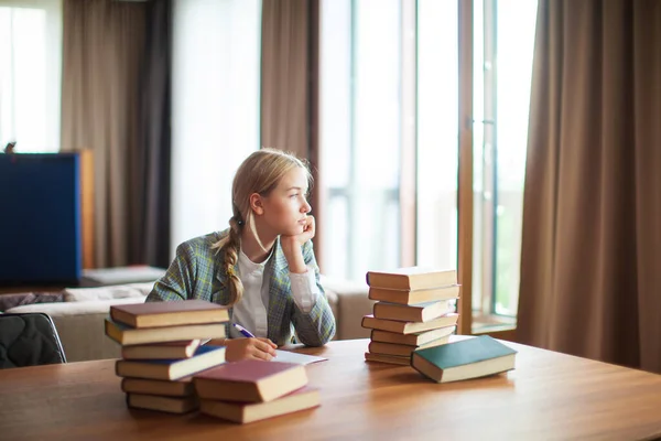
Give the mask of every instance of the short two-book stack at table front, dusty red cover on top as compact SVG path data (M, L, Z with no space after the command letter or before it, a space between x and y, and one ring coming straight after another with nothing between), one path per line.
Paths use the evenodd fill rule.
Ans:
M247 423L321 405L318 389L307 386L305 366L242 361L196 374L199 411Z

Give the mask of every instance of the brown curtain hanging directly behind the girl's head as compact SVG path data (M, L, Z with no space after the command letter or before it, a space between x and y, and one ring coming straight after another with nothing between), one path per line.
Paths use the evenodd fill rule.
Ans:
M306 159L315 184L311 205L322 226L318 174L318 0L263 0L261 146ZM321 263L321 235L315 237Z

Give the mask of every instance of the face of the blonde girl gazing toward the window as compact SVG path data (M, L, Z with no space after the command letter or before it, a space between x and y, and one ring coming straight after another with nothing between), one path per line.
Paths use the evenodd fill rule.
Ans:
M305 217L312 209L307 203L307 174L295 168L288 172L278 186L261 197L260 226L273 235L296 236L303 233ZM259 214L259 213L258 213Z

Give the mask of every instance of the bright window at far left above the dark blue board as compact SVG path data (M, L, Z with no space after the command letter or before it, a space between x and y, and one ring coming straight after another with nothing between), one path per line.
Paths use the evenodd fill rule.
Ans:
M59 150L62 2L0 0L0 148Z

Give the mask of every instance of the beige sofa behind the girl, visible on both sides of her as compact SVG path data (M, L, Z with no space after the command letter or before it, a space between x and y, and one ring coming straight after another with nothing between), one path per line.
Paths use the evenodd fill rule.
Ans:
M368 299L367 284L325 276L322 276L321 282L335 314L335 340L369 337L369 331L360 326L362 316L371 313L373 304ZM48 314L59 334L67 362L118 358L120 346L105 335L104 319L113 304L144 302L152 286L153 282L65 289L61 293L43 294L48 295L46 300L56 300L44 303L34 303L39 301L39 294L23 294L32 297L30 304L20 304L4 312Z

